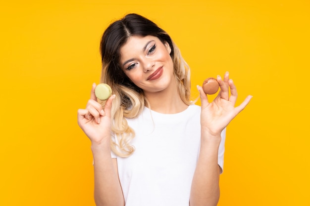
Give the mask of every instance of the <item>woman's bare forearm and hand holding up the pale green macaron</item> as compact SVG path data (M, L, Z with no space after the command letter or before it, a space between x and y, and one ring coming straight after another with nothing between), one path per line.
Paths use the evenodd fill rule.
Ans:
M97 206L124 206L116 159L111 158L111 107L114 95L107 99L104 110L95 96L93 84L86 109L78 110L78 124L92 142Z

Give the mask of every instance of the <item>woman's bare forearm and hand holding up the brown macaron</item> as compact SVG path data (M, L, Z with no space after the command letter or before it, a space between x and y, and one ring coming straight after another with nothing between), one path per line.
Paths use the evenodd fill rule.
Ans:
M201 148L193 177L190 206L216 206L219 200L219 166L218 148L221 141L221 131L232 121L250 102L248 96L239 106L235 107L237 90L229 73L224 79L219 76L217 82L220 91L217 97L208 102L207 95L198 86L202 102L201 113ZM229 95L229 89L231 95Z

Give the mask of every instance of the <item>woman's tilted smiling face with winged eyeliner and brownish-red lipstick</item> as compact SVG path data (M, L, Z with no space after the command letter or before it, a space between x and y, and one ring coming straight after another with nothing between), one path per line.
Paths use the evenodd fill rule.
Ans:
M120 66L144 92L158 92L174 80L171 48L154 36L132 36L120 48Z

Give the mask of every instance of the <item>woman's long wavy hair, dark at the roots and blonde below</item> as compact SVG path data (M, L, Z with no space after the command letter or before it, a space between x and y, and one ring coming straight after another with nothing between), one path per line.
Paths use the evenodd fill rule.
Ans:
M179 48L164 30L151 20L134 13L111 23L104 31L100 44L101 82L109 84L115 94L111 111L111 150L120 157L129 157L135 150L130 144L135 137L135 131L128 125L126 118L138 117L143 108L149 106L143 90L129 80L119 64L120 48L132 36L155 36L162 43L169 43L179 95L185 104L192 103L190 68L182 58ZM104 107L105 101L101 104Z

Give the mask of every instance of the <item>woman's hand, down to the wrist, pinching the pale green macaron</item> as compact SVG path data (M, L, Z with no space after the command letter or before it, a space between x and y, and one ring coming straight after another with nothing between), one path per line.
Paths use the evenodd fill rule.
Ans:
M111 95L105 103L104 110L95 95L96 83L93 83L91 98L86 109L78 110L78 124L89 137L92 144L101 144L110 140L111 136L111 106L115 95Z

